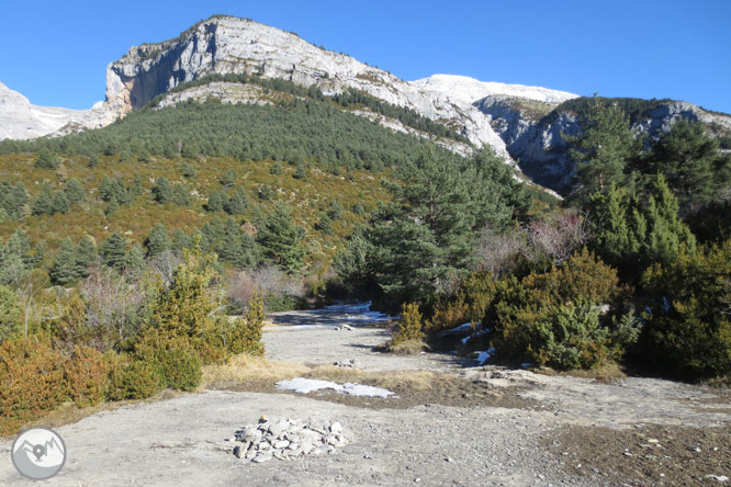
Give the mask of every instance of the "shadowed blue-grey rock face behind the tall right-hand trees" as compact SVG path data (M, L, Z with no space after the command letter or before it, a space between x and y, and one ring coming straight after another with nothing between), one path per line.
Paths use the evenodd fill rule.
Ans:
M510 157L533 182L565 191L576 173L569 156L566 135L581 134L575 112L552 103L527 102L514 97L488 97L475 106L491 120ZM707 112L691 103L664 102L645 110L632 131L646 135L645 148L678 120L704 122L717 134L731 132L731 116Z

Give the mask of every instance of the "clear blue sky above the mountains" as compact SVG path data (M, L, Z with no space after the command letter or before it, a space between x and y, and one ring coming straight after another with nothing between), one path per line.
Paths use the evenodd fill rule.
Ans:
M214 13L296 32L406 80L446 72L731 113L731 0L7 0L0 81L35 104L86 109L131 46Z

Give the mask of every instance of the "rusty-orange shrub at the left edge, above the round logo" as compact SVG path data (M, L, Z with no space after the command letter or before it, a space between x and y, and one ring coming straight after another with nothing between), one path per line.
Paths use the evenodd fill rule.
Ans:
M0 435L14 433L66 398L66 363L43 337L0 344Z

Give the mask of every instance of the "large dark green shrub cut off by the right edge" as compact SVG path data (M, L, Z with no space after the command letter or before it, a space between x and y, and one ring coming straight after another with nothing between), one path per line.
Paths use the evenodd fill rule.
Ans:
M731 374L731 240L643 276L652 296L641 352L681 377Z

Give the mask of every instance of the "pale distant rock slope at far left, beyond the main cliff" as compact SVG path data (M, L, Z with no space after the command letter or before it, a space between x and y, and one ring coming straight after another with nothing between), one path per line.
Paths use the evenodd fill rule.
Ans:
M113 121L114 118L106 120L106 112L101 103L91 110L37 106L0 82L0 140L29 139L53 133L66 134L81 128L101 127Z

